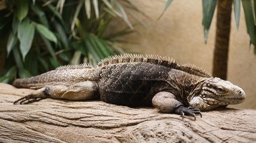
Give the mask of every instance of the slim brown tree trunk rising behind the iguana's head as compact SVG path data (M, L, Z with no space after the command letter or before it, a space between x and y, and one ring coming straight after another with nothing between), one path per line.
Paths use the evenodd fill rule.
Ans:
M230 34L232 1L218 1L217 30L214 49L214 68L212 75L227 79L228 46Z

